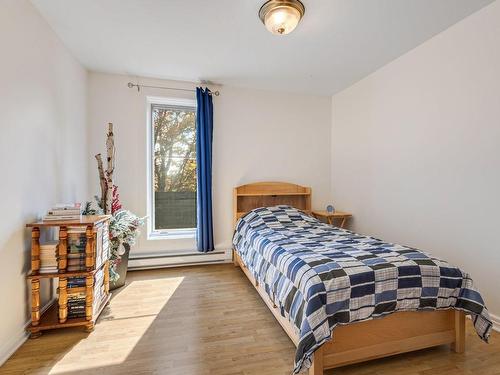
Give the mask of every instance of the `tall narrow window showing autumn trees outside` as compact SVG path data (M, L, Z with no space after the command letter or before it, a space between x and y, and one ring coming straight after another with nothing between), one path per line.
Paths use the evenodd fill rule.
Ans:
M151 236L196 228L196 103L150 99Z

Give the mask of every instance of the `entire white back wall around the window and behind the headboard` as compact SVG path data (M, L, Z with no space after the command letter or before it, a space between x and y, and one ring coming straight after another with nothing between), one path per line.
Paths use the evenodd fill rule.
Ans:
M105 126L115 124L116 183L124 206L146 215L146 97L189 97L194 93L127 88L134 78L90 73L90 152L104 152ZM192 83L151 80L150 85L193 88ZM313 205L324 207L330 192L329 97L220 88L214 97L213 210L216 249L232 237L232 188L264 180L289 181L313 188ZM90 168L90 190L98 191ZM132 254L195 248L194 240L147 240L143 230Z

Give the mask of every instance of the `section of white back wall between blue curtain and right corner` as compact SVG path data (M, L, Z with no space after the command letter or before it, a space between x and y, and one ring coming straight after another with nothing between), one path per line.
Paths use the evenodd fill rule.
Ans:
M330 98L224 87L214 119L214 219L230 246L233 187L288 181L312 187L312 206L330 200ZM325 125L326 123L326 125Z

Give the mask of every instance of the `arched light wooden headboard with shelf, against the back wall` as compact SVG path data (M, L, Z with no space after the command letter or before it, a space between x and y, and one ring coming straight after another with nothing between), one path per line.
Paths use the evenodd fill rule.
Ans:
M254 208L280 204L311 213L311 188L287 182L255 182L235 187L233 225Z

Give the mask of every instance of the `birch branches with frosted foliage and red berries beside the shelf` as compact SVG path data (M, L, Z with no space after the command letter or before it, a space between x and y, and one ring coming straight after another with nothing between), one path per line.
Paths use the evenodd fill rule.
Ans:
M95 156L99 180L101 186L101 196L95 196L95 202L87 202L84 208L84 215L111 215L109 222L110 239L110 280L116 281L120 275L116 272L116 267L121 262L121 257L126 251L126 246L135 244L139 237L139 227L144 225L144 219L132 212L122 208L118 187L113 183L113 172L115 169L115 144L113 135L113 124L108 124L106 138L107 168L104 170L101 154Z

